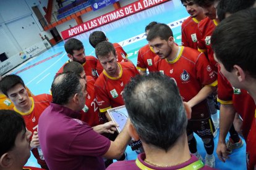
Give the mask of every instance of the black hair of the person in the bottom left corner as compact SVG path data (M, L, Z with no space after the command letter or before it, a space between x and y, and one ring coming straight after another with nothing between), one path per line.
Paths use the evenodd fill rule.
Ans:
M14 148L20 132L26 132L22 116L13 110L0 110L0 157Z

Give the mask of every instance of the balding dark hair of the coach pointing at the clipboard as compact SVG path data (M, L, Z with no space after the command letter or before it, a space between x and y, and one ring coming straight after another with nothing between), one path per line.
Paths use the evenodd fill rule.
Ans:
M66 105L75 94L82 95L82 85L79 75L73 72L61 73L56 76L51 84L53 103Z

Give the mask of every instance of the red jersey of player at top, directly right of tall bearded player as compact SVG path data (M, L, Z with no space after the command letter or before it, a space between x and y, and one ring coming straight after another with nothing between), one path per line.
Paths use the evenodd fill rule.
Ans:
M185 47L197 49L197 27L199 21L189 17L181 25L181 44Z

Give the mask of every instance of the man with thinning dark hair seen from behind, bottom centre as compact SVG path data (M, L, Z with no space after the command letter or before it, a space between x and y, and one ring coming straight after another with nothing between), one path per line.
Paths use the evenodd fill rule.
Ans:
M212 169L190 155L186 126L191 108L182 102L173 79L161 73L136 76L124 88L129 132L145 153L107 169Z

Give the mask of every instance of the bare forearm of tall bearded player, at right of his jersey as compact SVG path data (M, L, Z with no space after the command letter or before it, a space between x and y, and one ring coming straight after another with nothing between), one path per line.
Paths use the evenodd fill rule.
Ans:
M195 95L195 97L193 97L192 99L190 99L189 102L187 102L189 106L192 108L198 103L207 99L208 95L212 94L213 92L216 92L216 89L217 89L216 85L217 85L217 81L215 81L210 85L203 86L203 88L198 92L198 94Z

